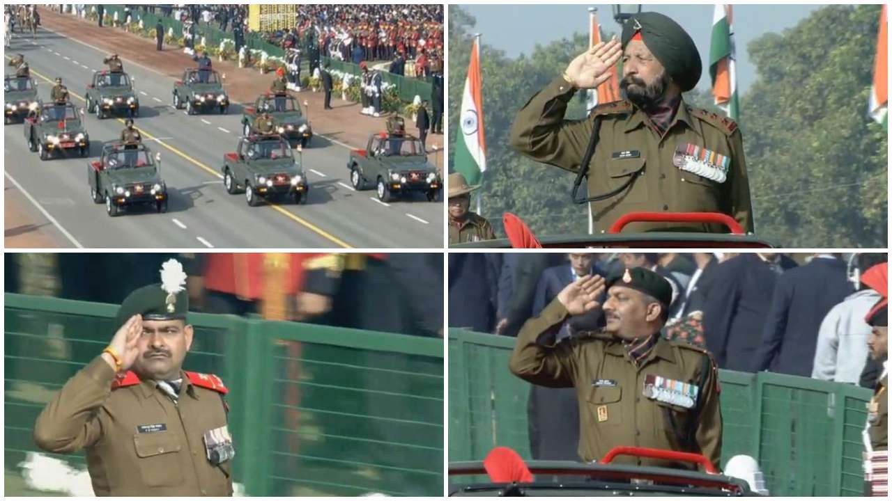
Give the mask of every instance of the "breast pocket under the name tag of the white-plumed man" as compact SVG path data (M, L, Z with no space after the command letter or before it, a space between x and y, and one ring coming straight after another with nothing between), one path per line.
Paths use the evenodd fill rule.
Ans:
M183 483L179 439L169 431L134 435L136 463L147 487L175 487Z

